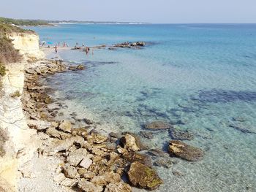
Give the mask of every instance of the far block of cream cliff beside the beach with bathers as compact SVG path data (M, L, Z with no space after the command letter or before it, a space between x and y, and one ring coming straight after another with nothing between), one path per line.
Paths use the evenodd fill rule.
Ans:
M44 53L39 50L39 36L33 33L12 33L8 37L12 39L15 49L25 58L43 58Z

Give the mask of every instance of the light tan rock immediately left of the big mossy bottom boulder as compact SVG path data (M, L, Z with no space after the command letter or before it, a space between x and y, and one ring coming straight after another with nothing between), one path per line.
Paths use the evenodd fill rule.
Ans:
M108 185L108 183L119 183L121 181L121 177L119 174L114 172L105 172L102 175L94 176L92 178L91 183L95 185Z

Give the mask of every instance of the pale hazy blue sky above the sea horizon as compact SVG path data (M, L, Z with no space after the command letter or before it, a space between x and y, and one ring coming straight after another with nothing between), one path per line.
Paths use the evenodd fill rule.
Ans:
M0 16L151 23L256 23L256 0L1 0Z

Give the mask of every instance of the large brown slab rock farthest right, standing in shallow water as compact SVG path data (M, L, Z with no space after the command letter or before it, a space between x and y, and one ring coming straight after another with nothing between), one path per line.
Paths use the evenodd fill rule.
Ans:
M187 161L198 161L203 158L204 155L203 150L177 140L170 141L168 150L171 155L176 155Z

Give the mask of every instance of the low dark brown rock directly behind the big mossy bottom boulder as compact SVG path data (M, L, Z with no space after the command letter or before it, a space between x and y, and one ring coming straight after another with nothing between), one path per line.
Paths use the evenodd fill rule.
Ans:
M124 153L122 157L124 158L124 160L129 161L130 163L137 161L137 162L140 162L141 164L152 166L151 158L146 154L130 152L130 153Z

